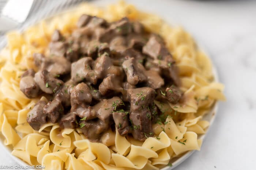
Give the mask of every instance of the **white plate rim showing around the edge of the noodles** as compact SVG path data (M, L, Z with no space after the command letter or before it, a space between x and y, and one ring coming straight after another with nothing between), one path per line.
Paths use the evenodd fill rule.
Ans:
M96 4L99 4L99 2L97 3L97 1L96 1ZM105 4L106 4L106 3L105 3ZM57 16L57 15L61 15L61 14L66 13L66 12L68 12L68 11L72 11L72 9L65 10L64 12L59 12L59 13L57 13L57 14L55 14L55 15L52 15L52 16L48 16L48 17L47 17L47 20L48 20L48 19L50 20L52 17ZM23 26L22 28L20 28L20 31L22 31L22 30L26 29L27 27L29 27L29 25L36 24L38 20L42 20L42 19L43 19L42 16L44 16L44 14L43 14L44 12L46 12L46 11L41 11L41 14L42 14L42 15L39 14L39 15L37 15L37 18L33 18L33 20L27 21L27 22L24 24L24 26ZM47 13L47 12L46 12L46 13ZM2 39L2 40L0 40L0 47L1 47L1 46L3 47L3 45L5 44L5 42L6 42L6 39L5 39L5 38ZM196 41L196 43L197 43L197 45L200 44L200 43L198 43L197 41ZM200 47L201 50L205 50L205 48L201 48L202 46L200 46L200 45L198 45L198 46ZM204 52L205 52L205 54L206 54L207 56L209 56L206 51L204 51ZM215 66L212 66L212 72L213 72L213 76L214 76L214 78L215 78L215 81L216 81L216 82L219 82L219 77L218 77L217 69L216 69ZM208 127L208 129L207 129L207 131L206 131L206 134L207 134L209 128L211 127L212 123L214 122L215 115L217 114L217 110L218 110L218 102L215 102L215 104L214 104L214 106L212 107L211 111L208 112L206 115L203 116L203 120L207 120L208 122L210 122L210 125L209 125L209 127ZM199 136L198 136L198 139L202 139L202 140L203 140L203 139L206 137L206 134L199 135ZM22 161L21 159L19 159L19 158L15 157L14 155L11 154L12 149L11 149L10 147L4 145L4 139L5 139L4 136L3 136L2 134L0 134L0 143L1 143L1 144L0 144L0 148L3 149L3 150L4 150L12 159L14 159L14 161L16 161L19 165L21 165L21 166L28 166L28 164L27 164L26 162ZM182 163L183 161L185 161L189 156L191 156L191 155L194 153L194 151L195 151L195 150L188 151L188 152L186 152L185 154L183 154L181 157L177 157L177 158L172 159L172 160L171 160L172 167L166 166L166 167L162 168L161 170L171 170L171 169L175 168L175 167L178 166L180 163ZM32 169L31 169L31 170L32 170Z

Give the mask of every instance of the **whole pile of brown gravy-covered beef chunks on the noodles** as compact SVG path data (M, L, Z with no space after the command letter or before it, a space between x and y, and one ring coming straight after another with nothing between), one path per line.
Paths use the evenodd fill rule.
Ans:
M49 51L34 54L38 71L27 70L20 80L28 98L49 96L50 102L39 101L28 113L34 130L59 122L101 142L116 126L120 135L144 141L154 136L152 124L160 115L154 99L177 103L182 96L163 39L139 22L82 15L70 36L53 33Z

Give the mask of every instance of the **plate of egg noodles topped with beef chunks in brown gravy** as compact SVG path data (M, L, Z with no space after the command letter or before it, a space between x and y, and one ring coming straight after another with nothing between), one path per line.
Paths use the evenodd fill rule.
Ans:
M0 139L24 166L169 170L225 100L189 33L123 1L9 32L0 63Z

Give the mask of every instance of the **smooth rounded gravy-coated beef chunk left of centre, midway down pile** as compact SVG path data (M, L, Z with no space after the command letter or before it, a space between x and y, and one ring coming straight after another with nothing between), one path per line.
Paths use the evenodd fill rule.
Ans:
M90 104L93 96L91 95L91 90L85 83L79 83L71 91L71 106L75 104L83 105Z

